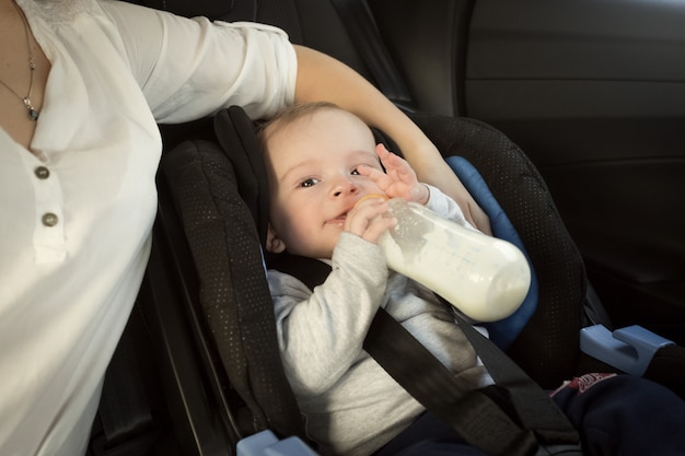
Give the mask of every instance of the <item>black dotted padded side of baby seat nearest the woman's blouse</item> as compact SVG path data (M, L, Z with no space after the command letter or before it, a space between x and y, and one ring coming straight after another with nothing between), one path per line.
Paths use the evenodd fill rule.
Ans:
M170 183L200 284L200 305L229 381L253 414L253 431L303 436L282 370L276 321L252 214L231 162L213 142L165 154Z

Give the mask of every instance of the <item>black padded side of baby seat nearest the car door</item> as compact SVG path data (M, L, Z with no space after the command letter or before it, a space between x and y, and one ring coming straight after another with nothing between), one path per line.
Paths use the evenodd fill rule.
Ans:
M521 236L539 300L509 354L541 386L556 388L578 365L587 277L543 177L516 144L486 124L413 117L444 156L462 155L478 169Z

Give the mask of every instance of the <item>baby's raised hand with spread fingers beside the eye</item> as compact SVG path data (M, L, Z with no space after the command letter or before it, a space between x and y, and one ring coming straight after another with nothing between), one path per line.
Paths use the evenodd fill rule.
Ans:
M385 173L371 166L359 166L358 173L375 182L381 190L388 198L404 198L407 201L415 201L426 204L430 197L428 187L419 183L416 173L404 159L388 152L383 144L375 148Z

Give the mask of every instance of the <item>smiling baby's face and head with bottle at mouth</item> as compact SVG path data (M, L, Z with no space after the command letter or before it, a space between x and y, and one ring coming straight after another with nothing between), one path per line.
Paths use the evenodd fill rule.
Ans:
M277 130L266 160L271 229L292 254L330 258L347 213L363 196L383 194L357 173L381 169L373 135L346 112L320 110Z

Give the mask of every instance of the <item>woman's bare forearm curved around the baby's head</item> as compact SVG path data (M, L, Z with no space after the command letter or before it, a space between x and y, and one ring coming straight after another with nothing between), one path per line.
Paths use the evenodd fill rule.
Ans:
M388 135L402 149L419 180L434 185L450 195L472 224L484 233L491 233L487 214L411 119L345 63L302 46L295 46L295 102L333 102Z

